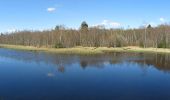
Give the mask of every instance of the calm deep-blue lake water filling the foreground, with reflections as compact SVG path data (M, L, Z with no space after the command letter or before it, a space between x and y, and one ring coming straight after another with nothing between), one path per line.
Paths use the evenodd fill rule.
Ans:
M0 49L0 100L170 100L170 55Z

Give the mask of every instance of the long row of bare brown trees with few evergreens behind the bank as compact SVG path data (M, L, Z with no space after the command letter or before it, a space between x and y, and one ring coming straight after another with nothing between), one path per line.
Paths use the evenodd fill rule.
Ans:
M170 48L170 26L160 25L138 29L105 29L88 27L86 22L79 30L56 26L50 31L18 31L0 35L0 44L35 47L69 48L140 46Z

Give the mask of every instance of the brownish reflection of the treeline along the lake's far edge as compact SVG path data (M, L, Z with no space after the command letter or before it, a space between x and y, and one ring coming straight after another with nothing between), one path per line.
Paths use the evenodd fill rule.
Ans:
M53 65L57 71L64 73L66 66L78 63L82 69L86 68L104 68L107 64L118 64L121 62L134 62L141 67L153 66L159 70L170 71L170 55L168 54L144 54L144 53L111 53L105 55L60 55L43 52L26 52L9 49L0 49L0 57L24 61L26 63L35 62Z

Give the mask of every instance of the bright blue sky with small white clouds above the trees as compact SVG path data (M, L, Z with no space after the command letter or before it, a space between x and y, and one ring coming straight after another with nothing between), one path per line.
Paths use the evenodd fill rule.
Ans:
M56 25L139 27L169 23L170 0L0 0L0 32Z

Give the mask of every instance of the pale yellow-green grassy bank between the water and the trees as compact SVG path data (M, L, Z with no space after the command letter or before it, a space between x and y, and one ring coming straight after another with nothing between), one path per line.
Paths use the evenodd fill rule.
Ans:
M107 48L107 47L74 47L74 48L37 48L32 46L20 46L20 45L4 45L0 44L0 48L26 50L26 51L43 51L53 52L59 54L104 54L110 52L149 52L149 53L170 53L170 49L162 48L140 48L140 47L121 47L121 48Z

